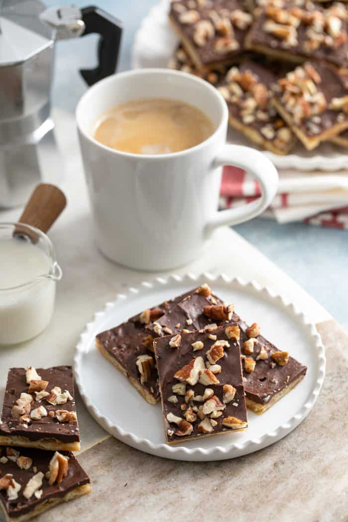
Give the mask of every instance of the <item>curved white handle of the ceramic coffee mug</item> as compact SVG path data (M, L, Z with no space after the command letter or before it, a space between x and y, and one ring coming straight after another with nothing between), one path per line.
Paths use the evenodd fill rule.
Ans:
M236 225L258 216L265 210L277 193L279 177L273 163L258 150L242 145L224 145L214 160L213 168L232 165L248 171L261 186L261 196L241 207L215 212L206 225L210 235L216 228Z

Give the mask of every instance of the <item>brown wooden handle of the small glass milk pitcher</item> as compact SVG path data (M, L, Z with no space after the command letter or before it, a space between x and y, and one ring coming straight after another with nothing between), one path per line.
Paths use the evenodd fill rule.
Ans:
M60 188L41 183L34 189L19 222L47 232L65 206L66 197Z

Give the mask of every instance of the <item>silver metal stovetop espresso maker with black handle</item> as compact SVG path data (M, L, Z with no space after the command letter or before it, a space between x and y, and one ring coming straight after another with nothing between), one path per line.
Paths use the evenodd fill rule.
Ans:
M98 7L0 0L0 208L21 205L44 172L62 169L50 117L55 42L100 34L97 68L80 71L91 86L115 72L121 32Z

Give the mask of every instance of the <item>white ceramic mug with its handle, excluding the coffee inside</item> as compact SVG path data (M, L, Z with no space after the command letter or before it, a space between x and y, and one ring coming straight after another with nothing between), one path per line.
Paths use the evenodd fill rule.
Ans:
M93 138L103 112L143 98L190 103L211 118L215 131L195 147L155 156L117 151ZM97 243L122 265L138 270L184 265L201 254L217 227L254 218L277 190L277 170L265 155L226 145L227 105L217 89L195 76L166 69L110 76L81 98L76 118ZM219 212L223 165L250 172L261 197Z

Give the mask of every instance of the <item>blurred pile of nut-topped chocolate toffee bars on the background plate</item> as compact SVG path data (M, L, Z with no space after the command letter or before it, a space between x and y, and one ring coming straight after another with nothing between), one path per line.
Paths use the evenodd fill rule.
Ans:
M180 45L169 67L205 78L231 127L261 148L348 147L348 4L174 0Z

